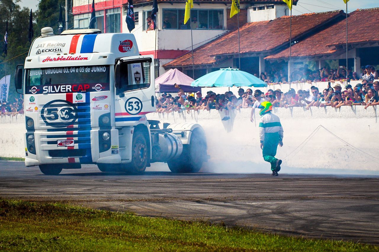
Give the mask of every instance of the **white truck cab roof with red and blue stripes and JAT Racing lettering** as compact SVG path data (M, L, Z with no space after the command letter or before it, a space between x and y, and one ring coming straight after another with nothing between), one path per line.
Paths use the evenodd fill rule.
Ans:
M57 57L85 53L112 53L114 58L139 55L133 34L98 33L92 29L86 29L38 37L33 41L28 56Z

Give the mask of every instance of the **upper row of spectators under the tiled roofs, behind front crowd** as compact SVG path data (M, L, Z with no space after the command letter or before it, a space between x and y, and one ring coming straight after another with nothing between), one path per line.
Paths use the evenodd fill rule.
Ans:
M257 74L255 74L257 76ZM272 84L288 83L287 75L283 70L277 71L273 68L271 71L266 71L257 76L262 81ZM328 66L318 70L310 70L309 66L305 64L303 67L295 68L291 73L291 82L335 82L335 81L357 81L361 79L367 79L369 81L378 79L379 75L375 67L366 65L361 67L360 73L352 72L352 68L341 65L336 69L331 69Z

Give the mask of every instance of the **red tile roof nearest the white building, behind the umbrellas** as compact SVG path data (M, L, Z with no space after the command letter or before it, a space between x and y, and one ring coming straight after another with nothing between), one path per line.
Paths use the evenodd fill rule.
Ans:
M292 17L293 39L304 36L313 29L343 16L343 11L309 13ZM271 21L247 23L240 27L241 53L266 53L277 51L289 44L290 17L283 16ZM238 54L238 31L232 31L194 50L194 64L213 64L214 56ZM164 67L192 65L191 53L187 53Z

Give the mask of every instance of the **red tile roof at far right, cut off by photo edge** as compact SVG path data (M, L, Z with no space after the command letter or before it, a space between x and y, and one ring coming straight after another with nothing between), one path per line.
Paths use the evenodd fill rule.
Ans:
M379 25L379 8L372 9L357 9L349 14L348 17L348 43L357 44L363 42L378 42L379 36L377 32L367 31L367 24L371 27ZM291 48L292 57L309 57L335 53L338 50L338 45L346 44L346 20L326 28L325 30L316 33L307 39L300 41ZM281 59L289 58L290 49L280 51L266 57L266 59Z

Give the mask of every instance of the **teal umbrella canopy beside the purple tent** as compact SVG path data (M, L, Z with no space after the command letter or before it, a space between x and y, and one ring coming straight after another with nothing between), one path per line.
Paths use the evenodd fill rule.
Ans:
M266 82L235 68L221 68L191 83L193 87L267 87Z

